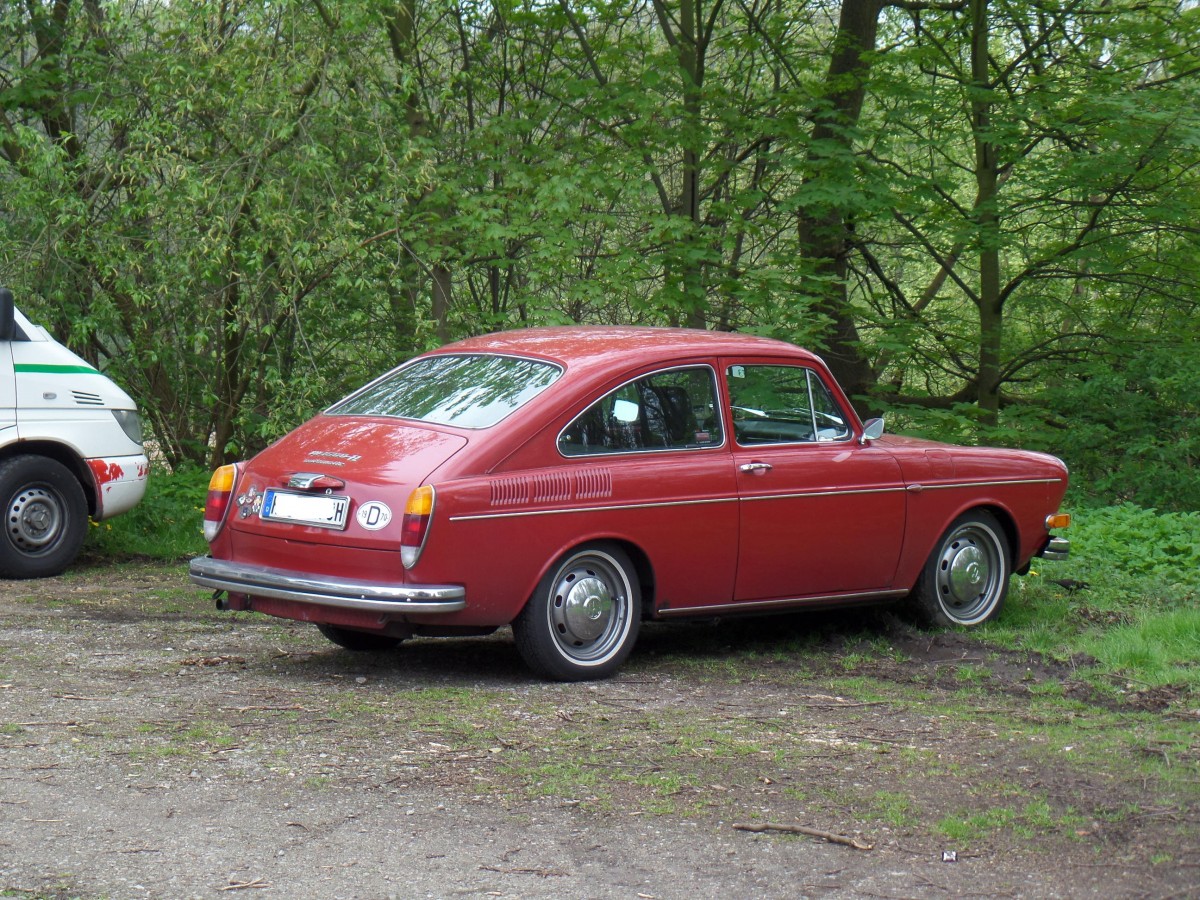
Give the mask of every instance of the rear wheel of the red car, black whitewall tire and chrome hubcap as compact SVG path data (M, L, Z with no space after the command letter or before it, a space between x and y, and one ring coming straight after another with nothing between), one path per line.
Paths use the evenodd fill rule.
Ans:
M629 557L616 545L594 544L554 564L512 623L512 637L526 665L545 678L607 678L634 648L641 611Z

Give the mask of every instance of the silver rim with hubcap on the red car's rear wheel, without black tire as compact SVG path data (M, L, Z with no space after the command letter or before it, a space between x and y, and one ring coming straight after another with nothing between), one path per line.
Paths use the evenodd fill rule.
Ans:
M588 552L568 560L554 577L547 604L554 647L578 665L611 659L629 634L631 595L625 570L607 553Z

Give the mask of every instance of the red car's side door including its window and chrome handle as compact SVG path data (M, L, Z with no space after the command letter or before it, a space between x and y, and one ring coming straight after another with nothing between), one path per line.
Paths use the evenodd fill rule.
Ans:
M904 538L900 467L858 440L822 372L725 366L739 496L734 595L762 601L889 589Z

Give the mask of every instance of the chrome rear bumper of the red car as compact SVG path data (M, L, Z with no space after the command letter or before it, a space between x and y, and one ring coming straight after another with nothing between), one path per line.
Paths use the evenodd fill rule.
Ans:
M343 610L398 616L458 612L467 606L467 592L461 584L386 584L358 578L302 575L212 557L193 559L187 575L194 584L203 588Z

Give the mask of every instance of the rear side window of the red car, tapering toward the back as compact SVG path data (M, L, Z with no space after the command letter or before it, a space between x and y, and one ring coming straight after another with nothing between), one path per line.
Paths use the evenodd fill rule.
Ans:
M558 437L564 456L720 446L716 384L708 366L673 368L623 384Z

